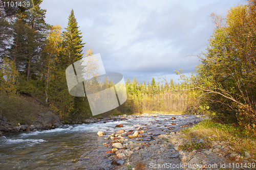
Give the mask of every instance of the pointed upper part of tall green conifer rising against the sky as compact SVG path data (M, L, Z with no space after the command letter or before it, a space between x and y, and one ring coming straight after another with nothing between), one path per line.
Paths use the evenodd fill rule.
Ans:
M86 44L82 43L82 33L78 30L79 27L73 9L69 15L68 27L65 29L67 31L63 32L63 37L65 39L66 53L69 56L68 64L71 64L82 58L82 47Z

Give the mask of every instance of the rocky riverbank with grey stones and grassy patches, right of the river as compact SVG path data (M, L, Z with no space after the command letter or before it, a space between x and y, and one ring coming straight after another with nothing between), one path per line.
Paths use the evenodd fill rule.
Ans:
M113 159L113 169L256 168L255 150L240 151L232 141L221 140L214 133L203 133L209 131L202 127L204 124L165 134L147 132L142 127L128 132L121 129L103 136L108 141L104 145L110 148L104 157ZM152 140L144 142L144 138ZM251 140L250 144L255 146L255 141Z

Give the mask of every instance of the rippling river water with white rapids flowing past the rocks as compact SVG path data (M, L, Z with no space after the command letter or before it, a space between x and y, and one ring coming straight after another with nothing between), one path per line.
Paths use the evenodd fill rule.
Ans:
M142 127L154 135L166 133L163 130L168 131L167 127L172 127L171 131L178 131L181 126L191 126L200 121L194 115L175 115L175 120L171 120L171 117L145 116L124 121L65 125L53 130L6 134L0 136L0 169L112 169L112 159L103 158L110 149L103 145L107 141L97 136L98 131L109 135L120 129L129 131ZM119 124L123 128L115 128Z

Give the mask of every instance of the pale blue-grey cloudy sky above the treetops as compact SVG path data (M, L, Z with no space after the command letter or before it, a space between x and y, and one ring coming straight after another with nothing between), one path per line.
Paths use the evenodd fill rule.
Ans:
M245 0L44 0L46 21L67 27L74 9L86 42L83 52L100 53L106 72L120 72L139 82L191 71L199 64L214 25L209 15L226 16Z

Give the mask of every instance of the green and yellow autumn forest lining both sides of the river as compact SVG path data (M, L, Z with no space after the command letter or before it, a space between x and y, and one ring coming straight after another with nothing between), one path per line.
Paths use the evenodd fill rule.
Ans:
M0 11L0 114L29 123L32 112L52 111L77 122L92 116L88 100L69 94L66 68L82 56L82 33L72 10L65 31L45 21L42 0L9 15ZM126 102L103 115L143 112L206 114L218 123L256 128L256 1L231 8L227 16L212 14L215 30L201 64L182 82L165 77L151 82L126 80ZM27 99L27 100L26 100ZM30 100L28 102L28 99Z

